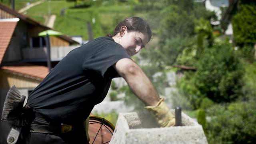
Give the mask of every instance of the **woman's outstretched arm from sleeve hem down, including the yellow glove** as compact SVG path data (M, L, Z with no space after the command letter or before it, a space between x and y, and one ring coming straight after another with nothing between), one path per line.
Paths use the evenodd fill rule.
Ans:
M123 58L113 66L120 76L126 80L134 94L144 102L145 108L154 116L159 126L175 125L174 115L170 113L164 99L159 98L153 84L137 64L128 58Z

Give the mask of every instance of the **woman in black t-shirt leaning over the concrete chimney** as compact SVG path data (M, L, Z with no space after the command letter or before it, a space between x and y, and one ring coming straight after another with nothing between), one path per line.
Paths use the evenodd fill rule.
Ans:
M28 96L26 108L33 109L36 118L26 143L86 143L84 121L93 107L106 97L112 78L120 76L160 126L174 126L174 116L130 58L150 39L147 22L131 17L116 26L113 37L96 38L72 50ZM72 128L61 130L61 124Z

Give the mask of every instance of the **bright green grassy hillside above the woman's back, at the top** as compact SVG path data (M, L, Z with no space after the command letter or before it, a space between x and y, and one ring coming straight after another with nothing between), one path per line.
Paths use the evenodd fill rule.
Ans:
M66 2L66 0L50 1L50 4L45 1L27 10L26 15L44 24L49 6L50 13L57 16L54 23L55 30L70 36L81 35L84 40L88 40L87 22L92 25L94 38L104 36L114 30L118 21L136 15L131 5L130 2L98 0L92 2L90 6L78 3L78 8L74 8L74 2ZM64 16L60 14L62 10L64 10Z

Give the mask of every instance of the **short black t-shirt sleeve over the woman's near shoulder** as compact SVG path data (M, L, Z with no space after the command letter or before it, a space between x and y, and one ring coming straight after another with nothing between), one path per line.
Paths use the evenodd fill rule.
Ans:
M102 77L105 72L122 58L130 58L126 50L114 42L104 44L92 56L84 60L83 68L86 70L94 70ZM130 58L131 59L131 58Z

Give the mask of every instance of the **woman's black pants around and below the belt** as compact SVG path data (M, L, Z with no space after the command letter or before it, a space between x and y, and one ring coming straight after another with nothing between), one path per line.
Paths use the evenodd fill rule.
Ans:
M47 122L39 113L36 113L36 118L32 124L44 126L57 125L56 123ZM70 132L61 133L61 129L56 129L57 131L53 133L30 132L30 136L26 140L20 138L17 144L88 144L83 122L72 125Z

